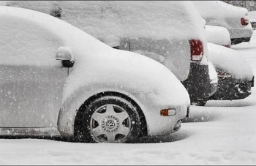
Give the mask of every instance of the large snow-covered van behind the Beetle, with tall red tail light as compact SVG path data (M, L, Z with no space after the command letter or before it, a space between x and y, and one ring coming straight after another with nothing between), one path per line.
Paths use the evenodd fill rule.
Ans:
M59 18L107 45L159 61L187 88L192 104L197 105L211 93L204 24L191 1L61 1L54 5L42 1L40 4L19 1L9 5L50 15L56 9L61 12Z

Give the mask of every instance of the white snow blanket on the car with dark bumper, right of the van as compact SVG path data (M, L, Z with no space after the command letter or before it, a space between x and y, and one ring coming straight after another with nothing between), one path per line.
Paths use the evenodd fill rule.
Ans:
M225 69L234 78L252 80L252 67L236 50L208 42L208 59L214 67Z

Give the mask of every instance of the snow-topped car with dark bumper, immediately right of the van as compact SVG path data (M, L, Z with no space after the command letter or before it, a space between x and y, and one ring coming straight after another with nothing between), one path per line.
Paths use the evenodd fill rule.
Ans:
M208 59L218 75L217 91L209 99L233 100L248 97L254 86L252 67L236 50L208 42Z

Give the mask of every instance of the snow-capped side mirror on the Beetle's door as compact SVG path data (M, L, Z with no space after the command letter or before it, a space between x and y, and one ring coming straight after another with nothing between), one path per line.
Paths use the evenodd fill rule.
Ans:
M62 60L63 67L73 67L74 61L71 50L66 47L59 47L56 52L56 60Z

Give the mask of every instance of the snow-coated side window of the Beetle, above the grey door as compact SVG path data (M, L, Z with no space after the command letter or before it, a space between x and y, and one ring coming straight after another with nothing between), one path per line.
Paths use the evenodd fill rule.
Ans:
M61 66L56 50L61 40L23 18L0 16L0 65Z

